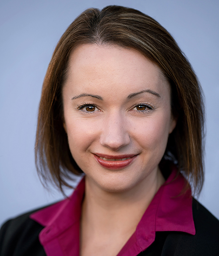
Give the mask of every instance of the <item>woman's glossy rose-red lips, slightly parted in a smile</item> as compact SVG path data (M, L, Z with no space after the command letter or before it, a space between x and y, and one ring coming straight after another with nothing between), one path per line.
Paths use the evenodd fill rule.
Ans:
M100 155L94 154L95 160L102 167L109 170L120 170L131 165L137 155L118 155L118 156L109 156L109 155Z

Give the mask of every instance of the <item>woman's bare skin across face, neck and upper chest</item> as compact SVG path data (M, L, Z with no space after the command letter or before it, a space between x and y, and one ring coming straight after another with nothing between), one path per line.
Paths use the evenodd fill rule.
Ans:
M71 154L86 174L81 256L115 256L164 183L158 165L176 125L170 85L138 51L83 44L71 54L63 103ZM131 160L112 169L99 156Z

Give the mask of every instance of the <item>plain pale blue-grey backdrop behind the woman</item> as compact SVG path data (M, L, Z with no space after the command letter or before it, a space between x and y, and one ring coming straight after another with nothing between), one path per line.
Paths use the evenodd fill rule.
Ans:
M34 142L42 81L59 38L88 7L134 7L177 40L197 73L206 102L205 186L199 200L219 218L218 0L0 1L0 223L62 198L35 172ZM70 191L67 191L69 194Z

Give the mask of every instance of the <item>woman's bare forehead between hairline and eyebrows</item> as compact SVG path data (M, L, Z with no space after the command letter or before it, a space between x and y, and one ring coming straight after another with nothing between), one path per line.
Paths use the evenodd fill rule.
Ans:
M160 91L168 84L159 67L144 55L117 45L79 45L71 53L67 73L66 84L75 85L77 91L103 86L127 90L146 86Z

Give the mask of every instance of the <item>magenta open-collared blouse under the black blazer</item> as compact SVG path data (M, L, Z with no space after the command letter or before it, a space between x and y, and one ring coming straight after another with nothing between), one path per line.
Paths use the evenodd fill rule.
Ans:
M195 234L191 189L183 194L184 177L174 169L142 216L135 233L117 256L136 256L155 240L156 231ZM44 226L39 240L47 256L79 256L81 203L85 192L83 178L67 199L33 213L30 218Z

